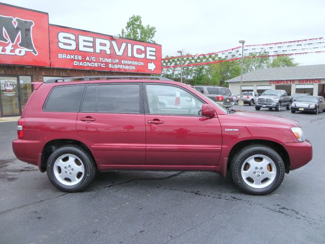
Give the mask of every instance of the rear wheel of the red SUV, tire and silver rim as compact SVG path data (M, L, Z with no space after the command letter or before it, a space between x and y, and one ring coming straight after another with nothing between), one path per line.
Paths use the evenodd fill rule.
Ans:
M51 183L63 192L79 192L95 176L92 157L81 147L62 146L47 161L47 175Z

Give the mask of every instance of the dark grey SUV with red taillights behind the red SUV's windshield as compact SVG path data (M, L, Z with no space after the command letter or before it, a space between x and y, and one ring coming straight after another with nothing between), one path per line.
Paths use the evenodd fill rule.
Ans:
M234 106L232 93L227 87L213 85L194 85L194 89L225 108L231 108Z

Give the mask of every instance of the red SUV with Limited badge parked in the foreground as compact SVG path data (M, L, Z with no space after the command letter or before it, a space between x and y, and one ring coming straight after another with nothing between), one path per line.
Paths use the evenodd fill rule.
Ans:
M96 170L230 170L244 192L264 195L312 159L296 121L235 113L163 77L33 84L13 150L64 192L87 187Z

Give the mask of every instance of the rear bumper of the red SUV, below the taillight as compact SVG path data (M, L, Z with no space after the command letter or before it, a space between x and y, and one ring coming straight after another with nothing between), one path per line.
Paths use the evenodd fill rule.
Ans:
M41 169L41 156L45 141L15 140L12 149L17 159L34 164Z

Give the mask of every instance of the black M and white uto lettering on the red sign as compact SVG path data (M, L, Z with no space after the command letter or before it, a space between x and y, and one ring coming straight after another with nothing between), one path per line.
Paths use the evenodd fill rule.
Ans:
M0 54L24 56L26 52L32 52L37 55L32 41L34 25L32 20L0 15ZM14 48L14 44L19 48Z

